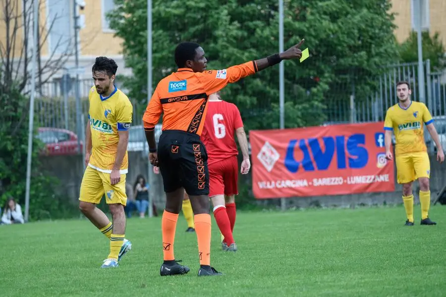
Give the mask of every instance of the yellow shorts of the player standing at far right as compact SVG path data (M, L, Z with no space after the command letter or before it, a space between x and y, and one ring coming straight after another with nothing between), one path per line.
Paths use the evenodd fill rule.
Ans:
M396 156L396 180L407 184L420 177L430 177L431 163L427 152L412 152Z

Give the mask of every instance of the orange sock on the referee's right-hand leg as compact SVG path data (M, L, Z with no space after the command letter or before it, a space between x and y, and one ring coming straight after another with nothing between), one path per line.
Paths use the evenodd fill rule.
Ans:
M210 266L211 265L211 215L207 213L196 214L194 216L194 222L195 222L195 232L197 233L198 255L200 257L200 265ZM164 231L163 231L163 242L164 242ZM172 251L172 256L173 256L173 251Z

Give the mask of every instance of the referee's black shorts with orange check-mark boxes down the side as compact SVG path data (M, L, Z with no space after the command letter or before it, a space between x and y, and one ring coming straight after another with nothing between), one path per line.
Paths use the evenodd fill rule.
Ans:
M158 160L166 193L183 187L188 195L209 195L208 154L198 135L163 131Z

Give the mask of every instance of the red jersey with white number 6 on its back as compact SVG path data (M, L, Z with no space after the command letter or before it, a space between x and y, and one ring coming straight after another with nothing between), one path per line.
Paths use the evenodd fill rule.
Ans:
M208 101L208 112L201 141L208 152L208 164L238 155L234 140L235 130L243 122L235 104L226 101Z

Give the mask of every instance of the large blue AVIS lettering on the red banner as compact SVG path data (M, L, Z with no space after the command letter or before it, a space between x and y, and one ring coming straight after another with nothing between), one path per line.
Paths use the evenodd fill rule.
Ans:
M337 169L347 167L359 169L367 165L369 153L364 147L364 134L353 134L349 137L328 136L323 137L322 141L324 151L317 138L290 140L286 149L285 167L291 173L296 173L299 167L302 167L304 171L327 170L333 162L335 151ZM302 151L301 160L295 159L296 150Z

